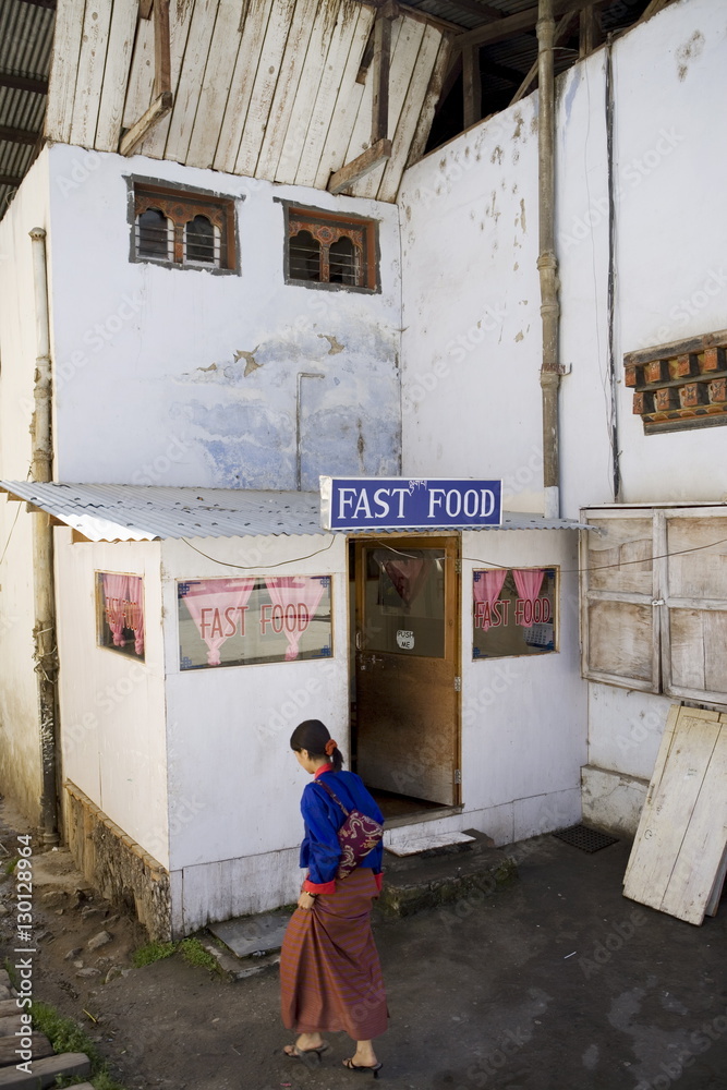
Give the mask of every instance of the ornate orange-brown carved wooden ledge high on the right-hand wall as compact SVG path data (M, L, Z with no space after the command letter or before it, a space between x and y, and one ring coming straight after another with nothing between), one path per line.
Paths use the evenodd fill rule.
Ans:
M727 329L623 358L646 435L727 424Z

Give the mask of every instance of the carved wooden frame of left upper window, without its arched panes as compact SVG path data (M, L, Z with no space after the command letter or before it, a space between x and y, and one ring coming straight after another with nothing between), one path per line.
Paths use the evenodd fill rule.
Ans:
M171 257L140 253L138 217L158 209L171 225ZM190 261L186 256L185 227L195 216L204 216L216 229L216 261ZM238 271L234 199L195 190L178 189L134 180L131 205L132 259L163 265L167 268L205 269L209 272Z

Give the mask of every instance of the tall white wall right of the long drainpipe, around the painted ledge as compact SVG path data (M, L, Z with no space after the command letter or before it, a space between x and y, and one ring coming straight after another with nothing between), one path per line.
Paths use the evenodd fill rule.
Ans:
M681 0L614 45L614 354L622 500L714 500L727 493L722 427L643 434L623 354L727 326L727 96L722 4ZM558 259L562 281L564 513L613 501L607 452L605 50L562 78ZM716 128L715 128L716 123ZM590 393L589 393L590 391ZM590 497L586 499L586 497Z

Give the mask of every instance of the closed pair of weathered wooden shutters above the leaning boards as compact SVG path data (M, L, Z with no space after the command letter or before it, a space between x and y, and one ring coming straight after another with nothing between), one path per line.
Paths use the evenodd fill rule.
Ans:
M581 542L582 671L727 703L725 508L594 509Z

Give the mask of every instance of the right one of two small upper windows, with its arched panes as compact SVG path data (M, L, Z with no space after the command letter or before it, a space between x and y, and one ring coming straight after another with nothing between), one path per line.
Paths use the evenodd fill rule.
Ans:
M375 220L284 207L287 283L378 290Z

